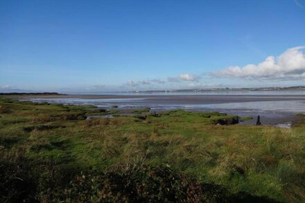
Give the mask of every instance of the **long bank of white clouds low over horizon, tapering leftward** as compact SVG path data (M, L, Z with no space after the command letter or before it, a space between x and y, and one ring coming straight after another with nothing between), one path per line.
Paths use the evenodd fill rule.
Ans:
M305 79L305 46L289 48L278 57L269 56L259 64L247 64L245 67L227 67L220 71L202 74L182 73L178 76L168 78L153 78L141 80L128 80L121 85L107 86L95 85L87 87L83 91L129 91L148 89L203 89L215 87L227 87L222 83L215 82L216 78L241 78L245 81L253 82L264 80L260 85L275 81L299 81ZM209 78L207 76L212 76ZM218 81L218 79L217 79ZM245 82L249 84L248 82ZM229 84L230 85L230 84ZM239 87L243 87L244 85ZM255 85L254 85L255 86ZM2 89L5 87L2 87ZM6 87L7 88L7 87ZM84 89L84 88L83 88Z

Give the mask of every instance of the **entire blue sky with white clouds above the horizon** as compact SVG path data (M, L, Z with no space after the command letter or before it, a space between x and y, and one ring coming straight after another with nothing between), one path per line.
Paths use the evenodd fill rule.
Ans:
M305 0L0 0L0 91L305 85Z

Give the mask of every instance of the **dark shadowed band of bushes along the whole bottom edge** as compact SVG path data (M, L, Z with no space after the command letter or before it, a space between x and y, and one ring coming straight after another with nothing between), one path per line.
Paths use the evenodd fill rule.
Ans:
M0 202L275 202L247 193L232 195L166 165L107 173L69 167L26 159L22 151L2 157Z

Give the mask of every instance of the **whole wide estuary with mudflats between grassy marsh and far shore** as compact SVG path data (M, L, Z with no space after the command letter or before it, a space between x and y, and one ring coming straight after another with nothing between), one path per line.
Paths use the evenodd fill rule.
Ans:
M263 124L283 125L295 121L297 113L305 113L305 91L239 91L202 93L158 93L158 94L95 94L39 96L24 98L33 102L95 105L119 109L150 107L159 112L168 109L190 111L217 111L238 116L252 116L245 121L252 124L261 116Z

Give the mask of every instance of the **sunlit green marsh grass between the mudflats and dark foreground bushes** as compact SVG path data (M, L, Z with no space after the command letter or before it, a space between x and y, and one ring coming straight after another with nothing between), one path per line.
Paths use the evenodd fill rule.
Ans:
M232 194L244 192L281 202L304 200L304 124L291 129L215 125L216 121L236 116L183 110L158 114L148 111L137 112L143 118L85 120L89 114L110 112L93 106L35 104L1 98L0 159L19 163L16 157L21 156L30 165L38 163L34 166L42 168L49 167L46 164L49 163L55 168L52 170L71 174L110 173L118 168L122 171L138 165L166 164L177 173L200 183L223 186ZM28 171L23 173L28 175ZM44 173L37 168L28 176L37 174ZM50 180L44 182L42 177L40 184L48 185ZM56 187L49 190L56 191ZM37 198L42 201L42 197ZM45 198L48 202L51 197Z

